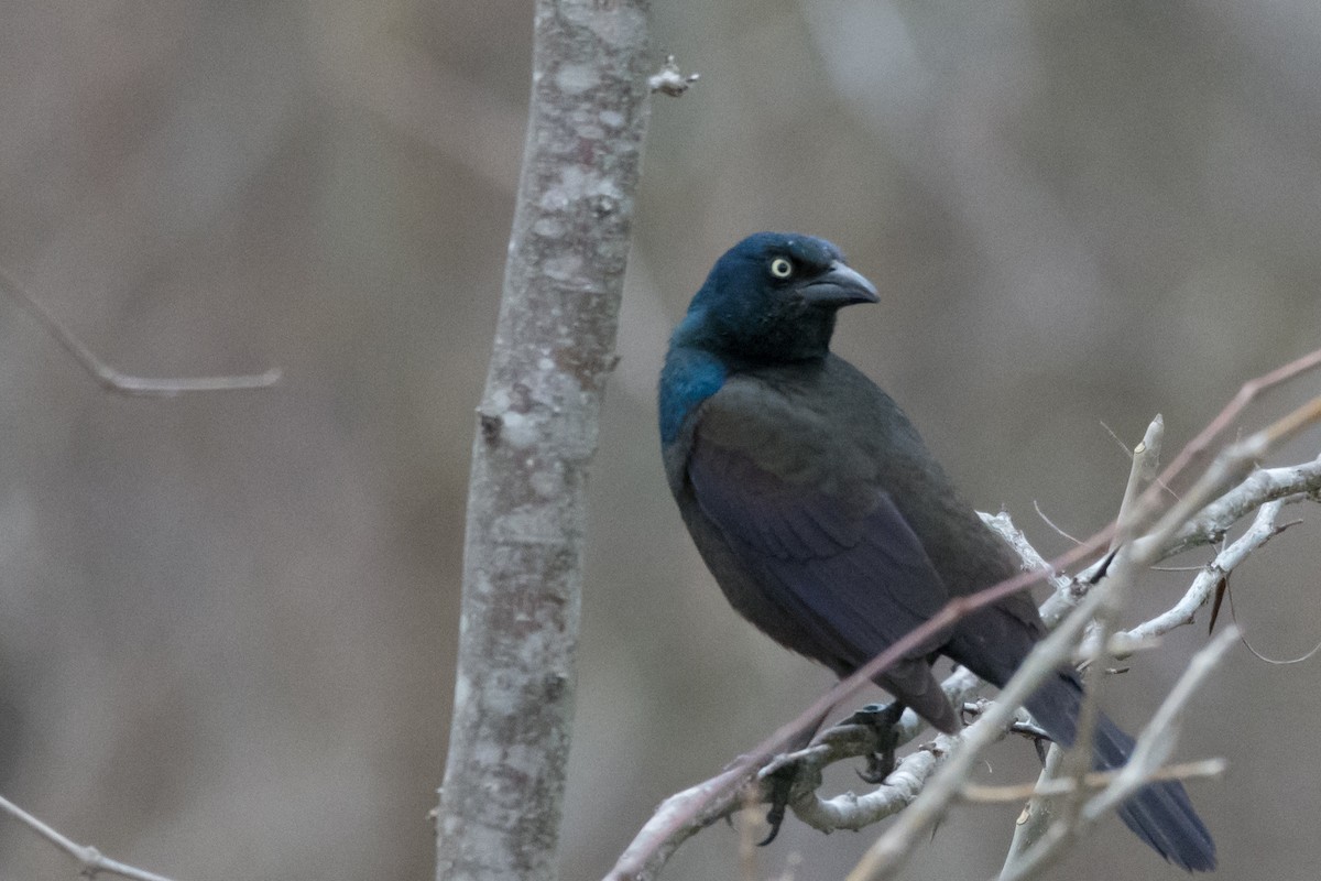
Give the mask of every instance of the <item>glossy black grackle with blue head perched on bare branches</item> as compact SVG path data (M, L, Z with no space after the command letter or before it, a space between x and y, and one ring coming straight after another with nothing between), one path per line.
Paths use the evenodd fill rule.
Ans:
M890 396L831 354L838 310L876 301L830 242L758 232L716 262L660 374L666 474L701 557L740 614L839 676L951 597L1018 572ZM952 732L960 720L931 674L937 655L1003 687L1044 634L1030 597L1005 597L876 683ZM1081 696L1062 670L1026 708L1067 745ZM1112 769L1133 740L1102 717L1094 744L1095 766ZM1141 789L1119 815L1174 865L1215 866L1180 783Z

